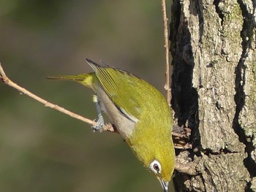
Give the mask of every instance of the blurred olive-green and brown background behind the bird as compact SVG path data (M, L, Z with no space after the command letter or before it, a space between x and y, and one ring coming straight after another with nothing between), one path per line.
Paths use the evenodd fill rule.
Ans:
M160 1L0 0L0 61L11 80L94 119L91 90L46 80L103 61L162 93ZM93 133L0 83L0 191L162 191L118 134Z

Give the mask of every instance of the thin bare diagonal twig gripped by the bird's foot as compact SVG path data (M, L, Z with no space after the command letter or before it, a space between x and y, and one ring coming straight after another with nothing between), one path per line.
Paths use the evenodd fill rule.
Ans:
M39 101L41 104L44 104L45 107L50 107L53 110L58 110L59 112L63 112L64 114L69 115L72 118L76 118L78 120L82 120L85 123L89 123L91 126L96 125L96 122L94 120L90 120L88 118L84 118L78 114L75 114L74 112L70 112L69 110L66 110L63 107L59 107L59 105L57 104L52 104L49 101L46 101L45 99L42 99L39 96L36 96L34 93L27 91L25 88L20 87L20 85L17 85L15 82L12 82L12 80L10 80L5 74L4 69L1 66L1 63L0 63L0 78L6 85L9 85L10 87L17 89L18 91L26 94L32 99ZM113 128L113 126L110 126L110 124L108 124L103 128L103 131L115 132L115 129Z

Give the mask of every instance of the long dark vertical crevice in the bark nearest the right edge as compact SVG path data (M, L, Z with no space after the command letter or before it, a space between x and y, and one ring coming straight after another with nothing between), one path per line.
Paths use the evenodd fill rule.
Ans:
M252 153L255 151L255 146L252 143L251 139L248 139L246 136L241 124L239 123L239 116L246 105L246 93L244 92L246 84L246 60L248 58L249 50L252 49L252 41L255 28L255 18L253 13L255 12L255 4L253 6L253 12L249 13L246 8L244 1L237 0L239 6L241 7L241 12L244 17L243 29L241 31L241 46L243 48L241 58L236 67L236 115L233 120L233 128L239 136L241 142L246 145L245 151L247 158L244 159L244 165L246 166L251 177L256 177L256 161L252 158ZM253 137L253 136L252 136Z

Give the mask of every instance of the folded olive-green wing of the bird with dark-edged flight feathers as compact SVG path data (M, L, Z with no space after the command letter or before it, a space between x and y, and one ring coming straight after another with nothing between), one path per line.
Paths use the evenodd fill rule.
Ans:
M86 61L94 69L102 88L118 110L130 120L138 122L141 115L139 102L141 101L141 90L136 90L138 90L141 80L128 72L99 66L89 59L86 59Z

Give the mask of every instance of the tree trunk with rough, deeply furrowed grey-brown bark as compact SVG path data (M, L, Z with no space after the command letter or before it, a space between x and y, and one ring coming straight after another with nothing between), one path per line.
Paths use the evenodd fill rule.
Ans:
M192 128L178 151L198 174L177 191L256 191L255 0L175 0L170 24L173 110Z

